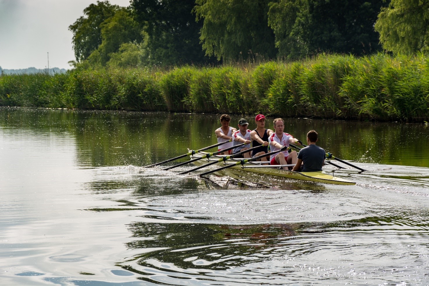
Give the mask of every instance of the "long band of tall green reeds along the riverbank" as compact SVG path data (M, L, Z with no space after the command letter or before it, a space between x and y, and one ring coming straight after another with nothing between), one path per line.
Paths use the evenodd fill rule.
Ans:
M292 63L0 76L0 105L429 120L429 59L319 55Z

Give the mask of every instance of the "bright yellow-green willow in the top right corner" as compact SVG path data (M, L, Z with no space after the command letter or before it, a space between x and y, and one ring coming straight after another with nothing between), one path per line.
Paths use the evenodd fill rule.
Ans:
M429 1L392 0L378 14L375 30L387 51L429 51Z

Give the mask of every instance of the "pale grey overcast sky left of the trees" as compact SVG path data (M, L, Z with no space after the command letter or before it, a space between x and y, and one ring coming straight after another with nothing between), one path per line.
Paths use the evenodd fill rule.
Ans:
M130 0L110 0L129 6ZM96 0L0 0L0 66L3 69L69 69L75 60L69 25Z

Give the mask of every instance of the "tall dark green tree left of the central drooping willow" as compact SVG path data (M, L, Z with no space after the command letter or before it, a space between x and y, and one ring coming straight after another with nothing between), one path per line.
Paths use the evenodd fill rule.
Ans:
M136 19L144 26L148 62L169 66L207 63L199 44L201 23L192 14L194 0L131 0Z

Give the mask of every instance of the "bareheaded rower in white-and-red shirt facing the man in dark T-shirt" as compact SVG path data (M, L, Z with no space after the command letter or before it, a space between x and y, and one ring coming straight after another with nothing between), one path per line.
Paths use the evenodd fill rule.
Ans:
M283 132L284 130L284 120L281 118L276 118L273 121L274 123L274 130L275 132L269 136L268 141L270 144L270 150L271 151L278 151L283 146L289 147L289 143L292 144L298 144L298 139L293 138L292 135ZM287 152L287 149L285 151L278 152L277 154L272 154L270 156L270 165L290 165L290 164L296 164L297 162L297 155L296 151ZM282 167L283 169L287 170L287 167Z

